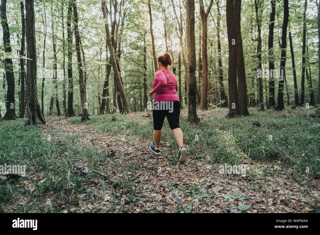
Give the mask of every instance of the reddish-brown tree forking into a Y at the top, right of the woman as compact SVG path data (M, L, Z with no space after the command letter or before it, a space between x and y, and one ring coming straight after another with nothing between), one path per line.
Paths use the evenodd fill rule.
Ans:
M200 108L208 109L207 92L208 92L208 55L207 55L207 18L212 6L213 0L210 1L207 11L204 11L203 0L200 0L200 15L202 21L202 94Z

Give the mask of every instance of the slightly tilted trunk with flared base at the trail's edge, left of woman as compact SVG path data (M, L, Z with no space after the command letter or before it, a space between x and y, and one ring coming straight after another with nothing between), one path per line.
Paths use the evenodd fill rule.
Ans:
M75 26L75 42L76 42L76 54L78 60L78 70L79 70L79 89L80 89L80 100L81 100L81 121L90 120L88 114L88 107L85 101L85 89L84 89L84 74L83 74L83 67L82 67L82 60L81 60L81 53L80 53L80 35L78 30L78 12L76 6L76 0L73 0L73 17L74 17L74 26Z

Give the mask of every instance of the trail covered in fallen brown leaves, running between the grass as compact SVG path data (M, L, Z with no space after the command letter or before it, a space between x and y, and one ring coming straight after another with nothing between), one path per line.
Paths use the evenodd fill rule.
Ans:
M123 206L116 206L111 202L110 186L107 194L99 195L99 200L72 208L68 212L85 212L94 208L100 208L102 211L112 208L109 210L112 212L177 212L183 211L181 205L185 207L193 203L194 212L239 212L245 209L245 205L251 205L245 212L306 213L313 211L310 205L319 204L319 184L316 180L301 180L296 183L285 178L285 174L260 178L220 174L220 164L212 164L205 160L194 161L192 156L188 156L188 164L174 163L170 156L176 156L177 150L169 149L167 146L161 146L161 155L152 155L148 148L151 138L141 140L136 136L127 136L125 140L121 140L120 135L99 132L88 124L73 125L66 119L48 119L47 124L43 126L42 134L52 134L55 131L53 128L59 129L59 136L79 135L78 139L84 145L101 152L106 151L110 154L116 151L111 154L111 161L107 166L88 168L105 174L114 182L128 180L112 189L118 198L117 204L121 205L120 201L123 201ZM257 162L250 161L247 169L256 164ZM131 171L119 170L121 166L128 165L131 166ZM134 176L133 167L137 174ZM128 177L124 177L125 173ZM107 179L105 183L109 184ZM251 187L252 183L257 184ZM132 201L132 198L135 198L135 201ZM187 212L190 208L191 206L184 210Z

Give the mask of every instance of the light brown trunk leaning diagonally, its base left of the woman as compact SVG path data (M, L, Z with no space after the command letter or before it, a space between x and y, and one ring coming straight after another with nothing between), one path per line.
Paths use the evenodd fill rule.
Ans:
M128 106L128 102L127 102L127 98L125 96L124 93L124 88L123 88L123 84L121 82L121 78L119 75L119 71L118 71L118 67L117 67L117 63L116 63L116 57L113 51L113 47L112 47L112 42L111 42L111 34L109 31L109 25L108 25L108 19L107 19L107 9L106 9L106 2L102 1L102 12L103 12L103 18L105 20L105 29L106 29L106 35L107 35L107 43L108 43L108 48L109 48L109 52L110 52L110 59L111 59L111 64L113 67L113 72L116 76L116 82L117 82L117 88L119 88L119 92L121 95L121 99L123 102L123 113L124 114L129 114L129 106Z

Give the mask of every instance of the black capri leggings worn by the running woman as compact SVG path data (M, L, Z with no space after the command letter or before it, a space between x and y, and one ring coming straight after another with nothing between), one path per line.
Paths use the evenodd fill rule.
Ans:
M157 103L158 102L158 106ZM161 103L161 102L167 102ZM170 103L170 104L169 104ZM166 105L166 106L165 106ZM162 110L161 107L162 107ZM173 108L172 108L173 106ZM160 108L160 109L159 109ZM167 117L170 128L176 129L179 126L180 117L180 101L152 101L152 114L153 114L153 129L161 130L164 122L164 118Z

